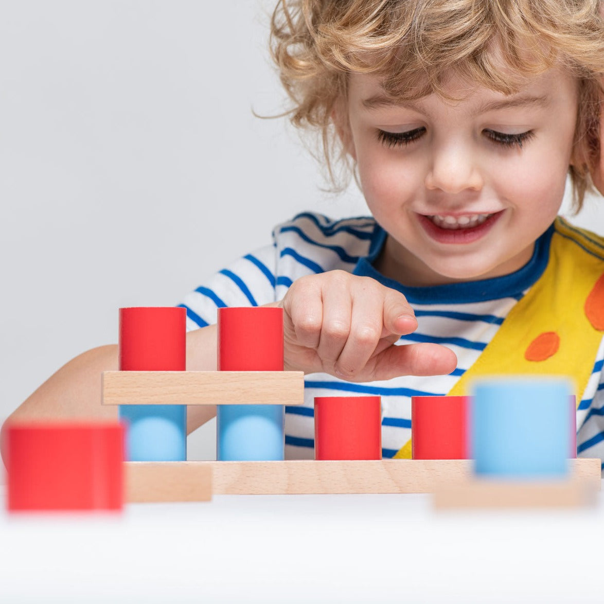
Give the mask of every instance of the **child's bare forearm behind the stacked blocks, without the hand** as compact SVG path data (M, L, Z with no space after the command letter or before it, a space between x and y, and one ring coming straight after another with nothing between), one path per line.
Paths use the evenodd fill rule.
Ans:
M117 419L117 407L101 405L101 373L117 368L116 344L88 350L49 377L8 417L7 423L11 420ZM187 333L187 369L216 369L216 326ZM189 407L187 432L215 414L215 407ZM0 435L0 445L2 440ZM5 459L3 445L2 458Z

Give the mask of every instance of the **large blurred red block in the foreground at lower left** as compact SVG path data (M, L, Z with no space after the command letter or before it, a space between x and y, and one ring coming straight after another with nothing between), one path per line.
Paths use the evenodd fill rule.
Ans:
M8 510L122 509L120 423L15 422L5 439Z

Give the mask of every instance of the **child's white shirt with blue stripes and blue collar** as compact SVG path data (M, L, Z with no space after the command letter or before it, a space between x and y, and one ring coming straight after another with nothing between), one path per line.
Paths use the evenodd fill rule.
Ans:
M402 286L373 268L387 234L372 217L331 220L303 213L273 231L272 245L260 248L215 274L188 294L187 329L216 323L216 309L261 306L281 300L303 275L340 269L373 277L402 292L415 310L418 327L399 344L438 342L457 355L455 371L445 376L401 376L355 384L324 373L305 379L304 406L286 407L286 458L313 458L315 396L379 394L382 397L382 454L392 457L411 437L411 396L447 394L478 359L507 313L541 277L548 262L553 228L536 242L532 259L503 277L425 288ZM577 409L577 452L604 460L604 346Z

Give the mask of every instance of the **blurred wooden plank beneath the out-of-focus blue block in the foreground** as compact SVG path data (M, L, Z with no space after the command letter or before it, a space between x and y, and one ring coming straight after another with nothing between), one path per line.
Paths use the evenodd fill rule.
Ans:
M435 509L514 507L582 507L596 503L596 489L576 476L543 482L494 481L478 478L434 493Z

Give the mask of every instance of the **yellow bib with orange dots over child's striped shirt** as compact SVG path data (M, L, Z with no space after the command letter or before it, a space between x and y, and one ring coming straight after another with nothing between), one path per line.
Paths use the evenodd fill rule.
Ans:
M604 238L558 217L544 273L448 394L467 395L479 376L564 375L574 381L578 405L603 330ZM411 459L411 440L394 458Z

